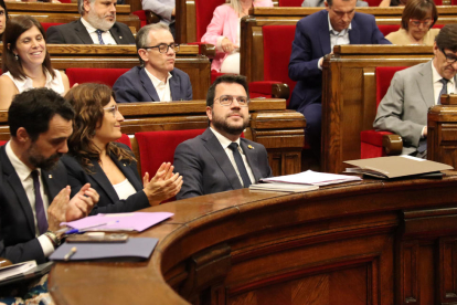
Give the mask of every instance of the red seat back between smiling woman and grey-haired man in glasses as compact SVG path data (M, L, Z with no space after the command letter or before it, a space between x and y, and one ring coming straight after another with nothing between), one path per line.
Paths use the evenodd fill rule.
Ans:
M102 83L113 87L120 75L129 69L110 69L110 67L68 67L65 70L68 76L70 86L83 83Z

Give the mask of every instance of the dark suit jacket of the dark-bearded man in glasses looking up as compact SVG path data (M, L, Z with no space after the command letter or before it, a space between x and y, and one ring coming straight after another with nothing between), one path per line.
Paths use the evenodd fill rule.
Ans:
M245 138L241 138L240 144L255 181L272 177L265 147ZM184 181L177 199L243 188L232 162L210 128L203 135L181 143L174 151L173 165L174 171Z

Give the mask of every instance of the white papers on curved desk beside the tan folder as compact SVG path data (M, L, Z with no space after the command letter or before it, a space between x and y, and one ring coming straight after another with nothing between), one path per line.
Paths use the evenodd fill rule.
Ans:
M299 173L261 179L262 182L284 182L294 185L328 186L362 180L359 176L336 175L307 170Z

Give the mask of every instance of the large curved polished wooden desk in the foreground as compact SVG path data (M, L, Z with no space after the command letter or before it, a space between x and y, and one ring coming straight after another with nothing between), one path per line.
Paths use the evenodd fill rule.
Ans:
M145 211L147 262L57 263L56 304L451 304L457 172L308 193L248 189ZM439 196L437 196L439 194Z

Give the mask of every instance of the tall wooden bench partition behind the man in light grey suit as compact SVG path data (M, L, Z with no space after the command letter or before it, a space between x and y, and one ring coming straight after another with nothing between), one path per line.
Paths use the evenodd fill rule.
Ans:
M340 172L360 158L360 132L376 116L376 66L412 66L429 61L432 46L338 45L322 69L321 170Z

